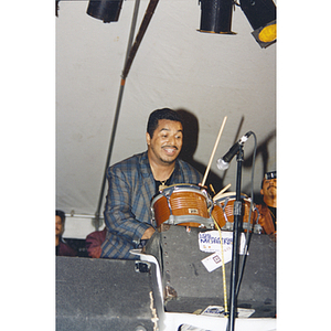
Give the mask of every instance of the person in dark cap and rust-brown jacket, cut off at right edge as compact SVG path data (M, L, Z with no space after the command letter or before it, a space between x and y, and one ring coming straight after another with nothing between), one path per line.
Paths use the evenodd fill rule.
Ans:
M259 212L258 223L263 233L275 235L277 233L277 174L276 171L267 172L261 182L260 194L264 197L263 204L257 204Z

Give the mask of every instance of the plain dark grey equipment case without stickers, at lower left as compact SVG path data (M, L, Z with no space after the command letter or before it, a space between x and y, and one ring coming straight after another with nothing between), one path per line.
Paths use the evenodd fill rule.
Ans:
M57 331L152 331L150 266L135 260L56 257Z

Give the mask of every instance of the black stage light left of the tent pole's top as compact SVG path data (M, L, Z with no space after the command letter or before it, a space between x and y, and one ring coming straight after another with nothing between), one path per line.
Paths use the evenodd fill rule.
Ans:
M104 23L117 22L122 0L89 0L86 13L104 21Z

